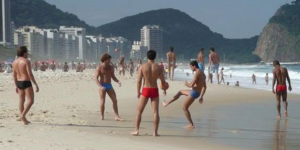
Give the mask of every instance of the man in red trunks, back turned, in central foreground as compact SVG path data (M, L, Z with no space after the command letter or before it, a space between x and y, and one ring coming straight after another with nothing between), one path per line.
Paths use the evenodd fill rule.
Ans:
M158 84L157 79L160 78L163 89L166 89L165 77L162 74L162 68L154 62L156 59L156 51L149 50L147 52L148 62L142 64L138 70L138 109L135 113L135 130L131 132L131 135L138 135L140 130L140 121L142 120L142 112L146 106L149 98L151 98L151 106L153 112L153 127L154 133L153 136L158 135L158 124L160 123L160 116L158 113L159 105L159 95L158 95ZM144 78L144 84L142 88L142 93L140 93L140 88L142 86L142 79ZM164 95L166 90L164 90Z

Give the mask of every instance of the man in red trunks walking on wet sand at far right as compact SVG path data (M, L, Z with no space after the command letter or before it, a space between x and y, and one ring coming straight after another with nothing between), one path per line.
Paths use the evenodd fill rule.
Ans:
M286 80L288 80L288 90L292 91L292 86L290 84L290 77L288 75L288 69L285 67L280 66L279 61L275 60L273 62L273 66L275 67L273 70L273 82L272 82L272 91L276 94L277 100L277 119L281 119L281 112L280 112L280 100L282 97L283 106L284 106L284 116L288 117L288 102L287 97L287 88L286 88ZM274 90L274 85L276 82L276 91Z

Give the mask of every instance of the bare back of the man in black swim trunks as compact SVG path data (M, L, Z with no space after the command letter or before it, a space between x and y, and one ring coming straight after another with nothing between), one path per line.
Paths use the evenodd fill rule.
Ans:
M28 59L23 57L19 57L15 60L12 64L13 70L17 73L17 80L18 81L28 81L30 80L28 72L27 72L27 65L30 65Z

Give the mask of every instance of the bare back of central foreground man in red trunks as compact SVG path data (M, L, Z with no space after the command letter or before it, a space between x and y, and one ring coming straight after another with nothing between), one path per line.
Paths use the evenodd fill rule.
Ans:
M147 62L142 64L142 76L144 77L144 87L157 87L157 80L162 73L162 68L156 63Z

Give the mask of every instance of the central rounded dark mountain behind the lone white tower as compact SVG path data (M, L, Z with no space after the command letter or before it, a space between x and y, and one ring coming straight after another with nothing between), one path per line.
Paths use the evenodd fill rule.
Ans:
M259 62L252 54L258 37L251 39L226 39L223 35L209 30L196 19L185 12L171 8L151 10L131 17L124 17L110 24L97 27L104 36L122 36L131 41L140 40L140 28L147 24L155 24L163 29L163 44L165 52L169 46L174 46L176 53L189 58L198 55L198 50L204 47L214 47L219 55L225 55L226 62Z

